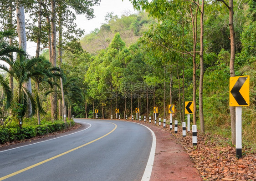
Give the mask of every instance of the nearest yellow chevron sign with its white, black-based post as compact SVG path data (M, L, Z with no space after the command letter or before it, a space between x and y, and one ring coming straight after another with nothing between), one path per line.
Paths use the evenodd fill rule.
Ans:
M250 76L230 77L229 106L236 107L236 157L242 157L242 107L250 104Z

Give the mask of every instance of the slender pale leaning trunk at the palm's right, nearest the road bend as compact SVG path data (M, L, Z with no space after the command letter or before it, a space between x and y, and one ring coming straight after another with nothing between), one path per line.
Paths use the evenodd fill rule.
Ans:
M59 49L58 49L58 53L59 53L59 68L61 68L61 64L62 64L62 16L61 16L61 12L59 13ZM60 77L60 82L61 82L61 97L62 97L61 108L63 111L62 120L65 122L65 124L67 124L64 89L63 89L63 82L62 82L61 77Z

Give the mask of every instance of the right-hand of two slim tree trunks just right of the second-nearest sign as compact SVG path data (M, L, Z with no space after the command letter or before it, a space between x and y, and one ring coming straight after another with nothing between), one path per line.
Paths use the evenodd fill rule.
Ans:
M203 112L203 79L204 79L204 7L205 0L202 0L200 15L200 81L199 81L199 117L200 130L205 134L205 121Z

